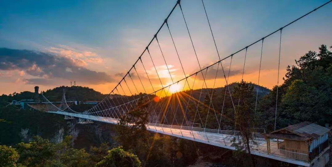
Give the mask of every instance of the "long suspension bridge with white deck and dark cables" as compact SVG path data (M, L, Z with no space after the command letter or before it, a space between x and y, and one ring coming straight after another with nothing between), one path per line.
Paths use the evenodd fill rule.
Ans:
M142 109L148 113L149 121L146 124L146 128L149 131L235 150L236 146L234 143L240 142L241 137L239 135L239 128L236 127L236 120L235 118L229 117L229 113L232 112L232 116L235 115L236 107L241 103L242 99L241 97L234 97L232 94L234 85L230 84L229 81L229 77L232 75L231 67L233 57L243 57L241 58L243 62L243 68L241 69L242 77L240 80L234 81L239 82L243 80L245 75L246 60L248 59L247 53L253 45L256 44L260 46L259 66L257 67L257 85L255 85L254 89L256 99L253 110L256 111L258 107L257 101L259 100L259 92L260 89L262 89L259 85L261 79L264 41L273 34L279 33L279 40L276 44L279 48L277 54L278 61L276 62L276 65L278 66L276 85L278 86L280 59L282 58L281 48L283 30L288 28L289 25L294 24L297 20L304 19L307 15L330 2L331 1L328 1L281 28L277 28L272 33L245 46L243 49L223 57L219 54L212 31L213 28L208 19L207 8L202 0L202 8L204 8L217 59L214 63L203 67L200 59L203 59L204 57L200 57L197 53L190 26L185 17L185 11L181 6L180 0L178 0L146 48L134 61L134 64L130 66L130 69L124 74L121 81L97 105L84 112L78 112L71 109L71 106L68 105L65 92L63 92L63 103L61 104L50 102L47 97L42 94L46 101L45 110L48 113L64 115L66 119L77 117L80 118L81 122L85 123L100 121L110 124L118 124L121 119L126 117L131 111ZM169 22L169 17L172 16L175 10L180 11L180 17L183 19L187 31L186 33L189 39L188 43L190 43L194 53L191 59L197 61L198 70L192 73L185 71L187 60L182 58L175 40L176 38L174 38L174 34L172 34L172 29L170 28L170 24L172 23ZM175 57L173 58L170 58L170 56L166 54L167 51L163 49L163 45L160 42L159 34L162 30L167 32L168 38L172 41L172 47L175 53ZM153 46L152 44L155 45ZM156 50L159 53L157 53ZM160 57L156 58L157 56ZM182 78L174 76L171 69L172 65L167 62L167 60L170 61L170 59L172 59L172 63L178 61L181 73L183 73ZM156 62L162 64L164 69L161 70ZM224 86L220 87L220 85ZM273 125L275 129L277 122L278 88L276 99L274 113L275 123ZM142 107L142 104L144 104L144 107ZM227 130L223 130L223 128L225 128L225 122L228 122L228 124L229 122L232 122L233 126L228 126ZM127 125L131 126L130 124ZM236 130L236 128L238 130ZM262 135L264 132L256 130L252 131L252 140L250 141L252 154L297 165L310 166L310 160L306 153L291 152L273 147L268 149L268 141L266 141Z

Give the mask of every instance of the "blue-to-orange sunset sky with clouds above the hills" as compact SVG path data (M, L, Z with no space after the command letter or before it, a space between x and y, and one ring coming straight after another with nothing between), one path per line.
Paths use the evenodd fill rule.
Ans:
M205 0L216 46L221 58L261 39L325 3L325 0L300 1L217 1ZM176 1L0 1L0 94L25 90L38 85L47 90L61 85L88 86L109 93L132 67L150 42ZM167 26L157 38L165 56L165 65L157 42L149 51L161 78L160 83L147 53L142 62L155 88L193 74L219 60L202 1L182 0L181 6L200 62L195 52L180 11L177 7L168 24L177 47L177 57ZM332 45L332 3L283 29L280 77L283 82L287 65L321 44ZM278 81L280 33L264 40L259 72L261 47L259 42L247 50L243 79L272 88ZM242 78L245 51L221 62L228 83ZM202 75L189 78L194 88L225 85L221 64L207 71L207 85ZM152 92L142 64L130 71L138 92ZM217 72L218 70L218 72ZM185 72L183 72L185 71ZM258 74L260 73L260 77ZM139 86L138 76L142 79ZM216 75L217 74L217 75ZM215 75L217 76L214 82ZM134 89L126 77L129 89ZM258 81L259 80L259 81ZM195 81L195 83L194 83ZM171 87L182 90L186 81ZM122 83L125 89L125 83ZM144 87L144 88L143 88ZM185 86L184 89L188 89ZM126 89L120 94L129 94ZM133 92L134 93L134 92Z

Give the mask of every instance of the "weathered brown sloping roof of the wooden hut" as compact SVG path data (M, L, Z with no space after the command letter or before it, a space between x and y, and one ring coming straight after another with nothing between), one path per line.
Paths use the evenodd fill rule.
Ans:
M273 131L266 134L266 137L275 137L291 140L308 140L310 138L318 138L330 131L330 129L311 123L309 121L304 121L288 127ZM285 133L287 132L287 133Z

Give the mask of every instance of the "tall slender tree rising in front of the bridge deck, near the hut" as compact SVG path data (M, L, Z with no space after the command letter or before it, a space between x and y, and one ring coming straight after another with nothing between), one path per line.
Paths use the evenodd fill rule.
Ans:
M233 143L237 151L236 154L247 153L251 163L255 166L254 156L250 152L250 141L254 140L252 135L254 125L254 87L243 80L234 87L233 97L240 99L239 104L235 107L235 121L239 126L238 138L233 138Z

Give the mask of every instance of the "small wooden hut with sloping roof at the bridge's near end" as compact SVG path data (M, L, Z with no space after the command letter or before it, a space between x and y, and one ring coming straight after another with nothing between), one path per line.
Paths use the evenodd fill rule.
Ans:
M263 135L267 141L268 153L286 150L287 153L300 153L296 155L306 154L311 166L316 166L317 163L321 166L329 160L328 131L330 129L326 127L304 121ZM319 162L320 159L324 159L324 162Z

